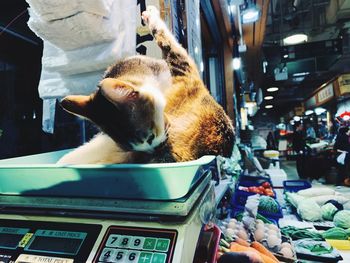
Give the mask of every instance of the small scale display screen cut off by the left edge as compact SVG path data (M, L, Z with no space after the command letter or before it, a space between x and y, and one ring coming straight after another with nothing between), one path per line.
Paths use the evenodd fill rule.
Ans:
M0 248L16 249L29 228L0 227Z

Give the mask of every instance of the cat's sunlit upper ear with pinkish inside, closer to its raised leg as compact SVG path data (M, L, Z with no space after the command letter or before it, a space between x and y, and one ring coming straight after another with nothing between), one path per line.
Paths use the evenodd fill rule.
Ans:
M124 81L113 78L105 78L100 84L102 95L113 104L133 102L139 98L139 92Z

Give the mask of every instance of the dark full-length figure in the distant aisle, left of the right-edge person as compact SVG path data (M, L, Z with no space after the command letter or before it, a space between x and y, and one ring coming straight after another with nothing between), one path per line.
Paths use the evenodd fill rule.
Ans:
M296 152L296 166L297 172L301 179L306 179L305 174L305 139L303 125L298 122L294 126L294 132L292 136L293 151Z

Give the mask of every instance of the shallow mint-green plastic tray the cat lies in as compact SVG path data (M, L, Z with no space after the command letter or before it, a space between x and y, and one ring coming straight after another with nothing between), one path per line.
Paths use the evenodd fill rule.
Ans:
M159 164L58 165L71 150L0 160L0 194L174 200L185 196L215 156Z

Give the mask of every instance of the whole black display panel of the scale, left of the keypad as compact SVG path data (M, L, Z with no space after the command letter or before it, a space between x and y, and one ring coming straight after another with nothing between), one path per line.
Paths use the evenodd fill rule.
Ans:
M87 262L100 224L0 219L0 262Z

